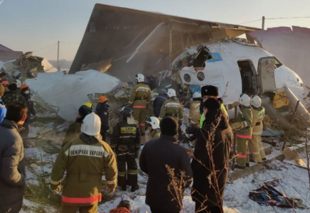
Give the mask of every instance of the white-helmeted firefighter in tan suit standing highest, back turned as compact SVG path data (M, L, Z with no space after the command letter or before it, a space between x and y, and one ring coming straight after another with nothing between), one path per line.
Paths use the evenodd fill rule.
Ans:
M133 108L134 119L139 122L141 135L145 133L145 120L147 104L151 101L151 89L144 82L144 75L136 75L137 85L132 89L129 97L129 107Z

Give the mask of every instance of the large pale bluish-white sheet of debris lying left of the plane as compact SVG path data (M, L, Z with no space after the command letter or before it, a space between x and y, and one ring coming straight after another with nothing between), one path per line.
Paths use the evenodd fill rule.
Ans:
M26 80L33 97L47 109L55 111L66 121L75 121L77 110L84 102L90 102L88 94L106 93L119 84L112 77L95 70L63 75L63 72L38 73L38 77Z

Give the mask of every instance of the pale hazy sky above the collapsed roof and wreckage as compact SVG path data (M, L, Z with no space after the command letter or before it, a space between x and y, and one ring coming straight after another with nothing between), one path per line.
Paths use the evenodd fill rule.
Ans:
M73 60L96 3L235 24L262 16L310 16L309 0L0 0L0 43L23 52L38 50L36 55L55 60L53 44L70 42L60 43L60 59ZM260 28L262 23L245 25ZM266 20L265 26L310 28L310 18Z

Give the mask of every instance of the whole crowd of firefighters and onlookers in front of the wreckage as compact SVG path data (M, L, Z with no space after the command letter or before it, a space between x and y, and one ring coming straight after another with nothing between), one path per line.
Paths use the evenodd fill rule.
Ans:
M146 204L151 212L180 212L182 203L176 199L176 192L169 190L173 177L166 166L173 170L175 178L183 180L177 186L181 195L193 182L196 212L223 212L232 131L237 137L237 168L249 166L250 152L257 163L265 159L260 142L264 117L260 97L251 99L241 94L237 102L225 106L218 98L217 87L201 87L201 93L193 94L188 117L186 133L195 145L193 153L188 153L177 143L183 109L176 91L168 89L159 94L153 103L155 116L146 118L151 89L144 82L144 75L139 74L136 79L129 104L121 110L122 119L112 128L109 144L107 97L99 97L96 108L85 102L78 109L50 175L50 189L56 193L62 190L60 212L97 212L102 190L110 194L117 186L123 191L127 191L127 186L131 192L139 190L138 168L148 175ZM19 212L26 184L19 132L28 128L29 117L35 116L36 111L28 85L21 84L18 89L17 84L7 86L4 82L0 85L0 212ZM239 107L239 113L237 121L230 125L227 110L234 107ZM146 126L151 141L141 150Z

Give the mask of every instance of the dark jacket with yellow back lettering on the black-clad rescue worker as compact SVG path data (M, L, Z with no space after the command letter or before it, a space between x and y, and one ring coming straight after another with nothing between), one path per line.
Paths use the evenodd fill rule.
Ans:
M140 149L140 129L133 118L119 121L114 126L109 146L117 155L134 155Z

